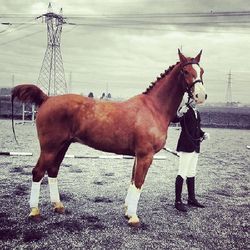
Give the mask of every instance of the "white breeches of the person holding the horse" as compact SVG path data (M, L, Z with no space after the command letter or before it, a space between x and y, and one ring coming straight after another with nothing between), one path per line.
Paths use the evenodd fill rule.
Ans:
M194 177L196 175L196 167L199 154L196 152L179 152L179 155L180 159L178 175L180 175L184 180L187 177Z

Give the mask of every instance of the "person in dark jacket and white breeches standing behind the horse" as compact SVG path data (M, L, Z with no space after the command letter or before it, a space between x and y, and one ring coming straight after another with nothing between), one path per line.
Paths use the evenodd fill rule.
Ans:
M209 134L201 130L200 114L196 109L197 103L191 99L177 113L173 122L180 122L181 133L177 144L179 152L179 167L175 181L175 208L187 212L182 203L182 186L184 180L187 183L188 205L204 208L195 197L195 175L200 153L200 143L209 139Z

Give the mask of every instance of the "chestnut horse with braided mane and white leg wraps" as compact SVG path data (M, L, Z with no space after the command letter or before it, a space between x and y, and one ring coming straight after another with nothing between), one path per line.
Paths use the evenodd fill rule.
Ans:
M144 93L123 102L76 94L47 96L35 85L16 86L12 102L17 98L39 107L36 126L41 152L32 171L30 217L40 216L40 183L46 172L54 210L64 212L57 175L68 147L79 142L98 150L135 156L125 215L129 224L138 225L137 205L145 177L154 154L165 145L168 126L184 93L197 102L206 99L203 69L199 66L201 52L190 58L178 51L180 62L169 67Z

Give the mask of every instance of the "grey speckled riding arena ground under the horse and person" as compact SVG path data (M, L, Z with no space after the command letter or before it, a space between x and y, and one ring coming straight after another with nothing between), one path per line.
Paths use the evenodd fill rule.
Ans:
M197 197L204 209L174 209L178 158L165 151L149 170L138 214L140 228L123 215L133 160L64 159L60 174L63 215L54 214L47 178L41 186L40 222L28 220L31 171L39 154L35 126L0 120L0 151L33 156L0 156L0 249L247 249L249 247L249 130L204 129L197 173ZM169 129L175 148L179 130ZM69 154L100 155L80 144ZM184 188L184 200L187 191Z

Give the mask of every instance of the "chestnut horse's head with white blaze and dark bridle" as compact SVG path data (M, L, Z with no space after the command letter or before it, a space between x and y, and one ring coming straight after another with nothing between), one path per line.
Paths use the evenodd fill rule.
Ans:
M203 68L200 67L200 57L202 50L195 58L185 57L180 50L178 50L181 66L181 81L185 92L188 96L195 100L196 103L203 103L207 99L207 94L202 80L204 73Z

